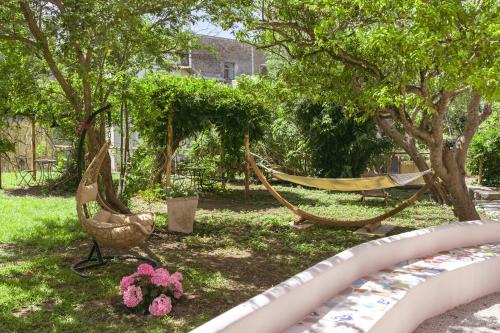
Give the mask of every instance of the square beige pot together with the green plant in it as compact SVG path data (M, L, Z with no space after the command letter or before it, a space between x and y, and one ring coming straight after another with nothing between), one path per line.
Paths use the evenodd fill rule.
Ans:
M190 234L198 207L198 193L187 182L177 181L165 188L168 230Z

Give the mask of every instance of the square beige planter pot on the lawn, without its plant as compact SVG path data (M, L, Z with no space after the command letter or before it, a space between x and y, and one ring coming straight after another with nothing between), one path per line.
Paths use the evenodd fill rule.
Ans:
M197 196L168 199L168 230L185 234L192 233L194 215L197 207Z

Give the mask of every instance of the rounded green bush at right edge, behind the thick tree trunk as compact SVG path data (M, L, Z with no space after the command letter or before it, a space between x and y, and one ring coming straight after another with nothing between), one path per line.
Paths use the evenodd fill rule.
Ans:
M482 184L500 186L500 112L496 110L479 128L469 149L468 169L479 174L482 161Z

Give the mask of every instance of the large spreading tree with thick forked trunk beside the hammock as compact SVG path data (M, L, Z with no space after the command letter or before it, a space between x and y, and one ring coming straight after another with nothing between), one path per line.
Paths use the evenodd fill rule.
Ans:
M416 143L426 146L459 220L473 220L465 160L499 96L498 7L494 0L263 0L251 14L245 9L240 38L280 54L293 85L375 117L420 169L428 166ZM447 140L444 118L462 94L470 96L465 130Z

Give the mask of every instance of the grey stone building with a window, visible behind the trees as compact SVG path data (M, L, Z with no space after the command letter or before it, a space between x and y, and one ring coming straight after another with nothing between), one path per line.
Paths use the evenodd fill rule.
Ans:
M198 45L181 61L184 75L230 83L238 75L254 75L266 70L264 53L237 40L200 35Z

